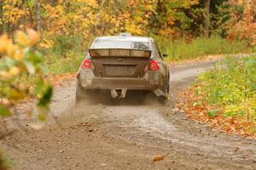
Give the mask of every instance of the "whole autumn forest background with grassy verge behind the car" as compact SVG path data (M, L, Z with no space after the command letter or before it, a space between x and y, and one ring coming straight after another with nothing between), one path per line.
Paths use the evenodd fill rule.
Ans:
M54 70L60 74L73 71L60 65L81 59L94 37L119 32L154 37L167 60L251 53L254 8L253 0L2 0L0 34L40 32L38 48L49 63L62 59Z

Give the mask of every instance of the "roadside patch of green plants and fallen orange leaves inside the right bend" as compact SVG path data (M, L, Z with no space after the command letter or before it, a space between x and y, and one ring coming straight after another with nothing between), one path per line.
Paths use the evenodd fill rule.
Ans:
M256 134L255 56L227 58L180 93L177 108L226 133Z

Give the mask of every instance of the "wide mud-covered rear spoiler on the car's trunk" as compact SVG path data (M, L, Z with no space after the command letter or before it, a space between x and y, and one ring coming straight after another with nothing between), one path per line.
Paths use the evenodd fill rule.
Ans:
M151 50L102 48L89 49L89 54L91 57L140 57L149 59L151 56Z

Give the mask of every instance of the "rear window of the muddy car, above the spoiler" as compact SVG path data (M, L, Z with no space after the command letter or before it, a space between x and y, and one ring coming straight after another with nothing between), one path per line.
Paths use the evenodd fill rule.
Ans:
M125 48L149 50L149 42L130 42L130 41L97 41L93 48Z

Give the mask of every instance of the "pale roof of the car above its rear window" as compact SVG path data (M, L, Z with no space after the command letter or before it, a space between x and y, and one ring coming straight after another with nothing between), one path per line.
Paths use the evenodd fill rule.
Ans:
M100 41L127 41L127 42L149 42L150 37L137 37L137 36L108 36L96 37L96 42Z

